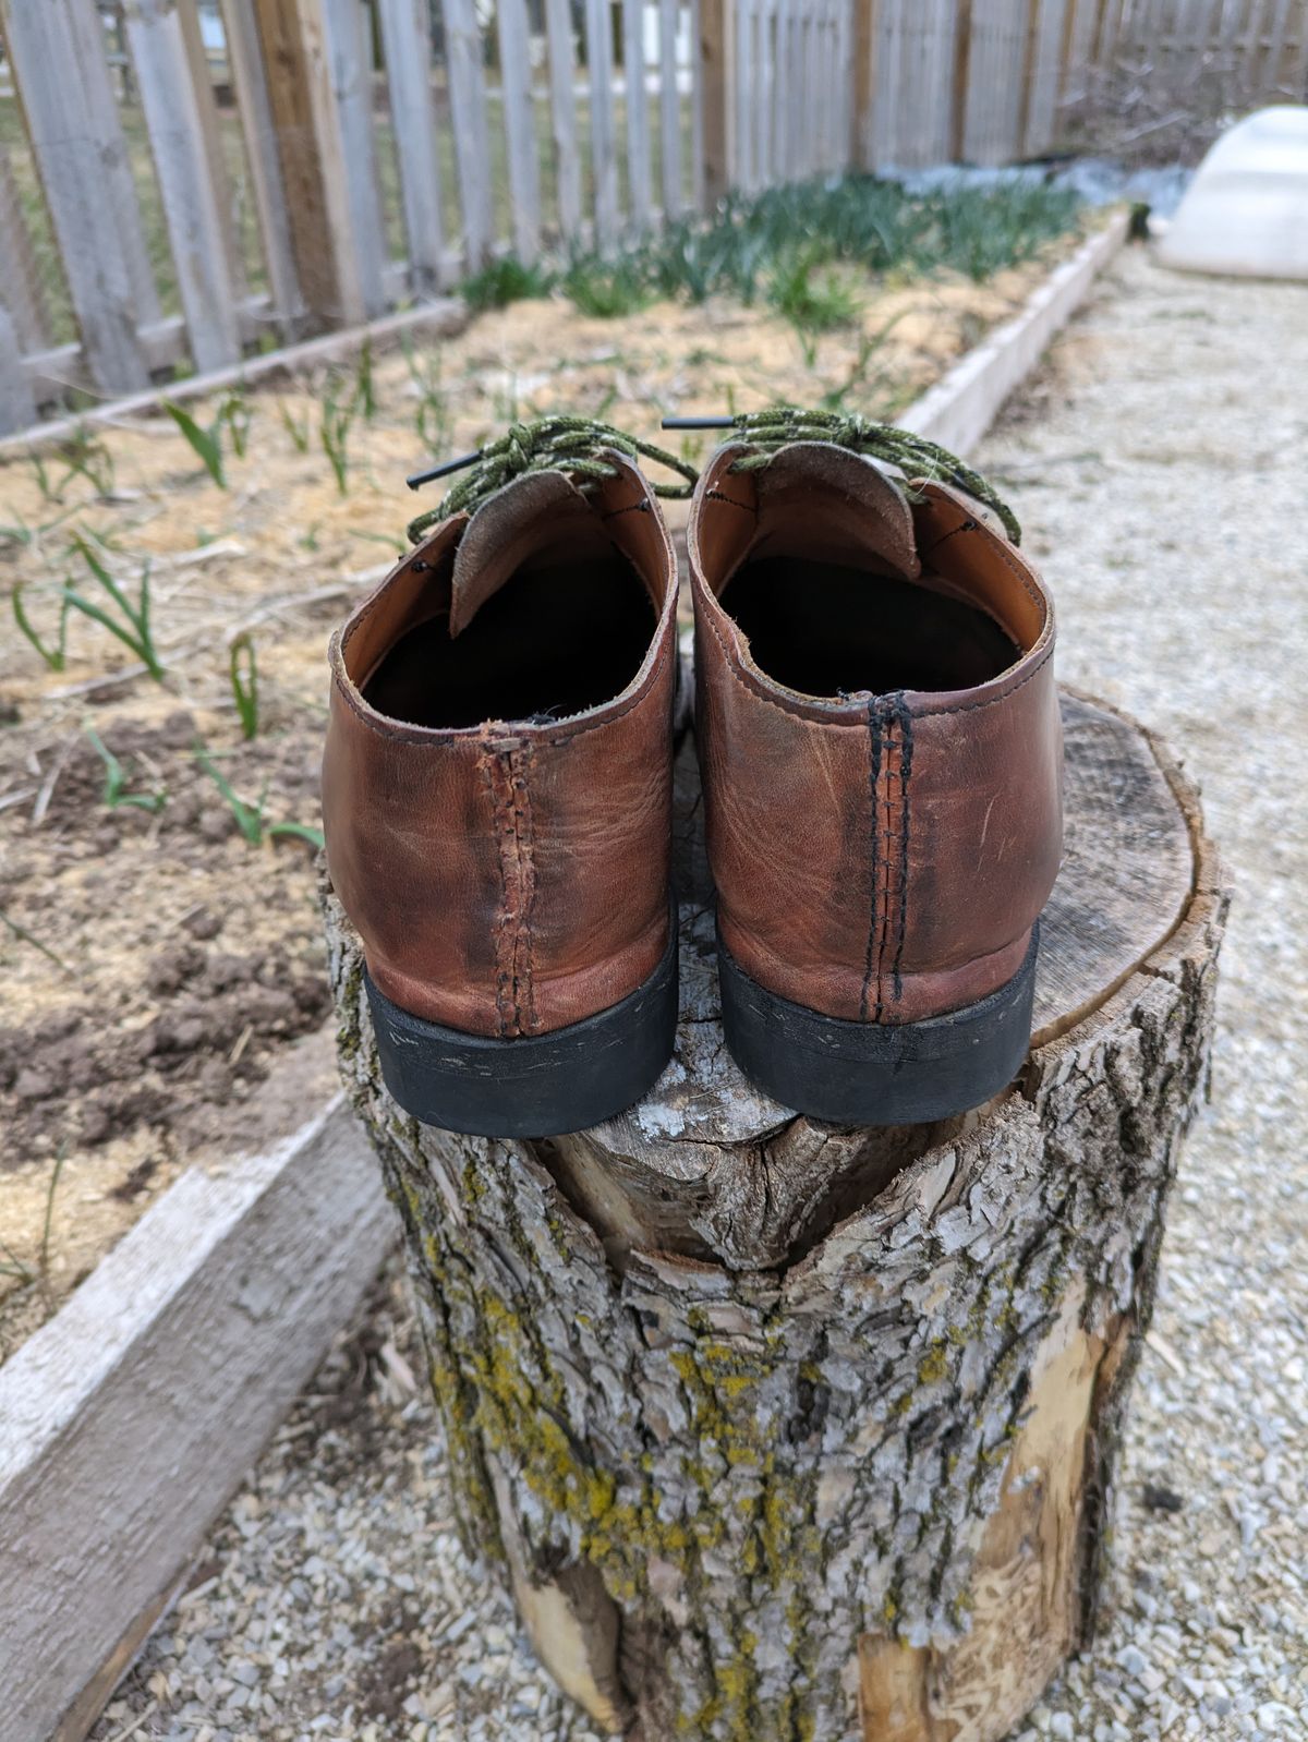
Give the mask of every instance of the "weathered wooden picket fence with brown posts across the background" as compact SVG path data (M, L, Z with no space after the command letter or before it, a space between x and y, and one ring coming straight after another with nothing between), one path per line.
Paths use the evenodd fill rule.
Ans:
M730 190L1306 80L1308 0L0 0L0 430Z

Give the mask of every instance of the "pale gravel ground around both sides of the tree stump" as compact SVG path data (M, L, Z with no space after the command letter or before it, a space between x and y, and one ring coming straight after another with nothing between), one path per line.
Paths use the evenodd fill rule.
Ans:
M1184 751L1237 883L1104 1627L1021 1742L1308 1739L1305 383L1308 291L1132 251L982 455L1057 596L1062 676ZM458 1552L413 1366L387 1279L98 1742L590 1739Z

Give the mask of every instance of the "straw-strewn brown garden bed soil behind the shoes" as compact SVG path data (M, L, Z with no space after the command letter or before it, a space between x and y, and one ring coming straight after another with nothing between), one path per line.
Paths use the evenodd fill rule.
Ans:
M859 324L808 340L726 300L620 321L561 300L481 315L374 359L343 490L320 430L354 369L251 394L226 488L162 413L103 432L96 483L64 481L49 451L0 462L0 1361L183 1167L294 1129L331 1087L324 1047L294 1092L260 1087L327 1010L315 855L298 836L246 840L214 770L265 822L317 826L326 641L434 500L404 474L550 409L651 437L665 413L777 399L892 416L1075 240L984 286L864 275ZM216 406L190 409L207 425ZM164 681L77 611L59 671L16 631L16 589L47 646L66 580L108 603L75 533L99 540L129 599L150 566ZM228 674L240 632L258 658L249 742ZM89 732L122 768L117 803Z

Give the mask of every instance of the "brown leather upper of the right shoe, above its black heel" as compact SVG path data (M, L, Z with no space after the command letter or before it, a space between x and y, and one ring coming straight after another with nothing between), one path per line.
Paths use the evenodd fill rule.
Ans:
M697 735L723 939L768 991L833 1017L911 1023L960 1009L1017 972L1059 868L1050 601L954 490L918 483L909 509L845 449L801 442L761 472L733 472L742 451L718 453L690 523ZM742 564L770 552L852 564L855 585L866 571L887 598L925 589L928 611L979 606L986 631L1007 638L1008 664L947 690L787 688L719 603ZM799 615L796 596L796 636ZM918 657L881 652L890 669L900 653L909 665Z

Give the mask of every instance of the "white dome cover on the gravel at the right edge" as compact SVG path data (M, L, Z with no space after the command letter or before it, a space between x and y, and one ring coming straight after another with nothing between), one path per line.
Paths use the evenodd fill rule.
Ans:
M1158 260L1190 272L1308 279L1308 108L1259 110L1217 139Z

